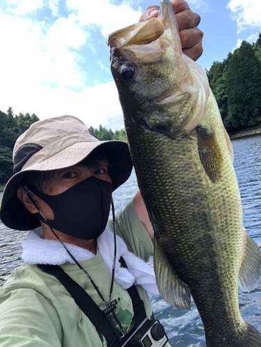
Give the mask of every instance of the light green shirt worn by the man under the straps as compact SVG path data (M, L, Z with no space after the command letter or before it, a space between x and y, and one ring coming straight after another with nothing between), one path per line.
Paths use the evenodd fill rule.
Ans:
M153 244L137 218L132 202L117 212L116 219L117 234L124 239L128 249L143 260L149 260ZM112 221L108 221L108 228L112 229ZM108 302L111 276L99 251L80 264ZM68 263L61 267L104 310L101 298L81 269ZM149 297L142 287L137 286L137 290L150 318ZM117 302L119 321L124 330L128 330L133 318L133 305L128 292L117 282L114 282L112 300ZM102 341L94 325L55 277L37 266L24 264L12 272L0 291L0 346L98 347L106 346L106 341Z

